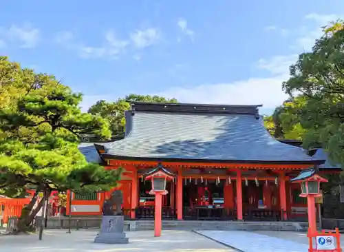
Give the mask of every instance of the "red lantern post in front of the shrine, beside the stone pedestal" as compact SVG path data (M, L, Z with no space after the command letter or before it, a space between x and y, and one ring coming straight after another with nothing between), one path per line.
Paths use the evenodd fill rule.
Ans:
M149 194L155 195L154 236L160 237L162 229L162 196L169 193L166 190L166 181L173 180L174 175L159 163L158 167L144 174L144 177L145 180L151 180L152 188Z

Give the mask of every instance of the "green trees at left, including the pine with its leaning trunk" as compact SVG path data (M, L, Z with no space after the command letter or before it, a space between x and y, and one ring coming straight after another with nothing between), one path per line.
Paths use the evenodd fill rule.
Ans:
M120 171L88 163L78 150L82 134L111 136L107 120L80 112L80 94L53 76L21 70L6 58L0 63L0 94L8 94L0 105L0 189L11 196L36 190L19 218L18 230L25 231L52 190L110 189Z

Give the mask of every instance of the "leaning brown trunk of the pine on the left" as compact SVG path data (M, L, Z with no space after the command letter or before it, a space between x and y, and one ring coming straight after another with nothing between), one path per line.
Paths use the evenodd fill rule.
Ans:
M41 198L41 200L36 205L36 207L35 207L35 204L39 198L39 191L37 190L34 193L34 197L30 201L28 206L23 207L23 210L21 211L21 216L17 223L17 229L14 231L15 233L34 231L34 228L32 227L32 222L34 221L36 214L43 207L45 200L49 199L50 193L51 193L50 189L45 189L43 193L43 198ZM42 216L43 214L44 213L42 213Z

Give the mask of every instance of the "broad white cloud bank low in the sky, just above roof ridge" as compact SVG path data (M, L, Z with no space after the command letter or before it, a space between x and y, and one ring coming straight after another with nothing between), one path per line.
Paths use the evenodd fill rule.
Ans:
M252 105L263 104L272 109L288 98L281 90L281 84L288 79L288 67L296 55L274 56L260 59L255 66L270 72L267 78L248 78L230 83L212 83L196 87L172 87L159 95L178 98L185 103L217 103Z

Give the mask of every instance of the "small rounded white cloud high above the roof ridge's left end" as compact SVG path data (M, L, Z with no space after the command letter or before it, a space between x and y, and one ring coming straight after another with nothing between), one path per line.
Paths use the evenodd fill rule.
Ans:
M130 34L136 48L147 48L160 39L160 31L157 28L147 28L146 30L136 30Z

